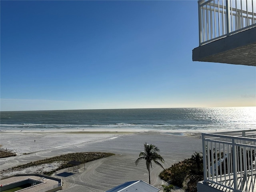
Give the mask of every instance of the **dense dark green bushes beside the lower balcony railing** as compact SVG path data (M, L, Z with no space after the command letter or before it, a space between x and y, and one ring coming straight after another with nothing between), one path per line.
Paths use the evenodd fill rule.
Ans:
M197 192L197 182L204 180L203 175L202 153L195 152L191 158L173 164L159 176L162 180L183 188L187 192Z

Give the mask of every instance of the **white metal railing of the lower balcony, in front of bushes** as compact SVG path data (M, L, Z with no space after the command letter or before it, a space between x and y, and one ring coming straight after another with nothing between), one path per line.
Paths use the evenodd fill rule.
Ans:
M256 130L203 133L204 182L253 192L256 188Z

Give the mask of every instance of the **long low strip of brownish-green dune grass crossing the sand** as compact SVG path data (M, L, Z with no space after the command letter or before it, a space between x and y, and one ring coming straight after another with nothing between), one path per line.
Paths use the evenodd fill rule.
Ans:
M42 174L46 174L46 175L52 175L54 172L64 169L64 168L68 168L70 165L68 164L69 161L71 160L76 160L76 161L80 161L82 163L86 163L86 162L90 162L93 160L97 160L100 158L105 158L105 157L109 157L114 155L113 153L102 153L102 152L80 152L80 153L69 153L69 154L65 154L65 155L61 155L61 156L54 156L51 158L47 158L44 160L38 160L38 161L34 161L34 162L30 162L24 165L19 165L13 168L8 169L8 171L18 171L18 170L22 170L25 168L29 168L32 166L40 166L42 164L51 164L54 162L61 162L58 166L58 168L51 170L50 172L43 172ZM6 170L7 171L7 170Z

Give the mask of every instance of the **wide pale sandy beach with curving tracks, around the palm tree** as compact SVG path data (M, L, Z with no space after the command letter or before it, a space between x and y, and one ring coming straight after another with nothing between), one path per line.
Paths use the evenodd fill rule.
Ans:
M79 173L68 177L58 176L64 183L62 191L104 192L127 181L148 182L145 162L135 166L145 142L158 146L165 160L164 168L168 168L175 162L190 158L193 152L202 151L200 135L200 132L178 130L2 130L2 148L14 150L18 155L2 158L0 170L72 152L111 152L116 155L88 162L85 170L81 168ZM55 175L64 171L60 170ZM158 188L164 184L158 178L161 171L159 166L153 164L151 184Z

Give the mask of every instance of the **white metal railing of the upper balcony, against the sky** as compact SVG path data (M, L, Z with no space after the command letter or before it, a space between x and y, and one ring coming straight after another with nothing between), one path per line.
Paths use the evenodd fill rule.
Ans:
M199 0L199 46L256 26L255 0Z

